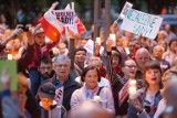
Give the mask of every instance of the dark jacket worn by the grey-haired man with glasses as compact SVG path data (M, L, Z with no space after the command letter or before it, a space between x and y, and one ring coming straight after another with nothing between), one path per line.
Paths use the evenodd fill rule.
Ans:
M53 76L51 79L49 79L49 82L51 82L52 84L56 84L56 75ZM72 76L69 74L69 78L66 82L63 83L64 86L64 95L63 95L63 103L62 105L64 106L64 108L66 110L71 109L70 106L70 100L71 100L71 96L73 94L73 92L77 88L80 88L80 84L77 82L75 82Z

